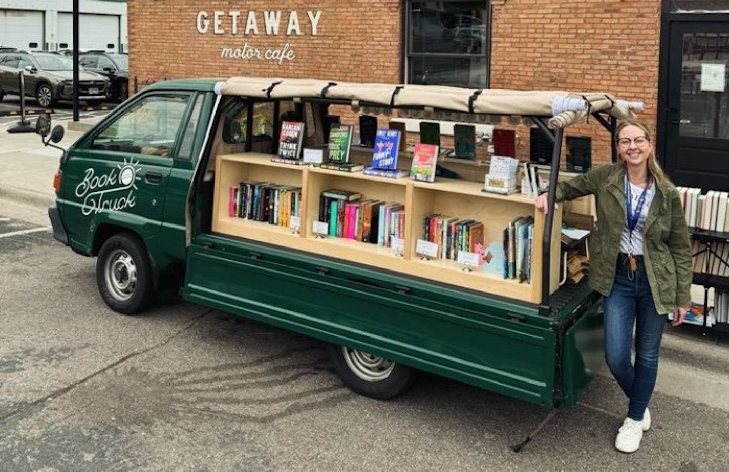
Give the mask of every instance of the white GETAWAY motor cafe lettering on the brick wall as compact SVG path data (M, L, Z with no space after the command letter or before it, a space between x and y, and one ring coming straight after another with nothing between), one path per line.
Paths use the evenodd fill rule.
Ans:
M280 11L257 12L249 11L247 14L239 10L222 11L216 10L208 13L200 10L195 15L195 28L199 34L230 34L231 36L255 37L259 35L279 36L303 36L309 34L316 36L319 31L319 20L321 11L308 11L306 15L299 15L295 10L284 15ZM269 60L281 64L284 61L291 61L296 58L296 53L291 49L288 42L278 47L260 48L247 41L234 46L223 46L220 48L220 57L227 59L243 60Z

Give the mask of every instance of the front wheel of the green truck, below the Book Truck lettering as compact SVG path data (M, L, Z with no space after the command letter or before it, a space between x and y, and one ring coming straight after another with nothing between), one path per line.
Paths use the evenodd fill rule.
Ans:
M115 312L132 315L149 307L154 295L149 256L139 238L128 233L109 237L98 251L96 283L101 298Z

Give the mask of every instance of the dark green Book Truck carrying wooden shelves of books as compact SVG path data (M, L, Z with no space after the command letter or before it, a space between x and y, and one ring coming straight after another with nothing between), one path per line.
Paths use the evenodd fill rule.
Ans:
M565 96L584 107L553 114ZM554 188L564 127L591 114L610 133L631 114L619 103L605 94L260 77L160 82L64 152L53 235L96 257L112 310L142 312L157 292L179 287L189 302L330 343L343 382L366 396L391 398L428 371L570 407L602 363L602 317L601 297L584 280L559 285L561 208L543 214L534 197L484 192L483 174L471 178L458 164L441 162L460 178L423 182L272 157L284 120L304 123L304 149L323 149L325 117L354 124L359 107L381 117L451 111L475 122L521 115L554 144ZM48 128L39 120L39 133ZM372 152L353 146L350 160L368 164ZM399 155L404 167L410 158ZM320 214L335 211L322 205L335 191L356 198ZM533 221L533 235L504 231L519 217ZM473 221L483 224L477 235ZM529 278L504 278L515 264Z

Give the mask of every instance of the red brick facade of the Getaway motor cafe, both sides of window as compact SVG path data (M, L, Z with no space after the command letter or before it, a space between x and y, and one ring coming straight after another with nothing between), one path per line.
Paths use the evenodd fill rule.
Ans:
M491 87L601 90L644 101L640 115L655 130L658 98L660 1L492 0ZM157 0L128 2L130 76L139 84L195 76L293 76L353 82L401 80L400 0ZM219 33L214 12L223 12ZM233 34L231 10L240 11ZM198 32L198 12L208 13ZM300 34L286 34L296 12ZM249 24L254 12L254 33ZM264 12L281 12L278 34L266 34ZM321 16L316 35L308 12ZM222 48L255 48L260 59L221 58ZM289 44L292 60L267 60L269 49ZM568 134L593 136L593 165L609 160L607 134L594 120ZM521 127L519 154L529 155Z

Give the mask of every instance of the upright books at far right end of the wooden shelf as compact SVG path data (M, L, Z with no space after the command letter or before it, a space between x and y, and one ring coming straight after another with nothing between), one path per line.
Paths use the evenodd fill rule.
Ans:
M531 283L534 218L518 216L504 228L504 278Z

